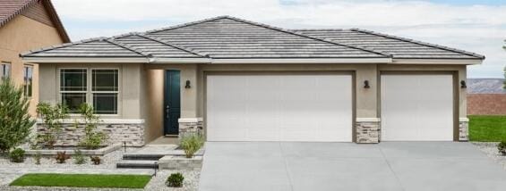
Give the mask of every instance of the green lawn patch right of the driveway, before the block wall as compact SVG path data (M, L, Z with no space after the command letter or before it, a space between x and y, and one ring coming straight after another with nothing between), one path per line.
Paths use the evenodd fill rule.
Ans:
M506 116L471 115L468 118L469 140L506 141Z

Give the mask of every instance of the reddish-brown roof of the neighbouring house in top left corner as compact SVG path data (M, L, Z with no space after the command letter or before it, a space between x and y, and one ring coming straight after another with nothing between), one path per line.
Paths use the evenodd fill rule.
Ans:
M64 29L62 21L60 21L55 7L53 7L50 0L0 0L0 27L13 20L14 17L24 12L31 5L39 2L42 2L47 7L46 10L64 42L70 42L70 38Z

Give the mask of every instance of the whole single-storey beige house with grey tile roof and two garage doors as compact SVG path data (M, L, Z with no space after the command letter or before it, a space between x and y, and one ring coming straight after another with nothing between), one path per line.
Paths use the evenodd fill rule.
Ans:
M130 145L199 128L208 141L467 140L460 84L485 59L364 29L229 16L22 57L40 64L40 100L92 104L111 140Z

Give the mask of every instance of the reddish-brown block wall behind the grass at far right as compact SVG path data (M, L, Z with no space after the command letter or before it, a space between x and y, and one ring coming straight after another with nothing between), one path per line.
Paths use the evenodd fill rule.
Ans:
M468 94L467 114L506 115L506 94Z

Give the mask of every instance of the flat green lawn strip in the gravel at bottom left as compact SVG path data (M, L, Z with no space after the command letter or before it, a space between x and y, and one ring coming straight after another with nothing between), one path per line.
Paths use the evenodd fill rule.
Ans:
M150 179L150 175L25 174L11 186L143 188Z

